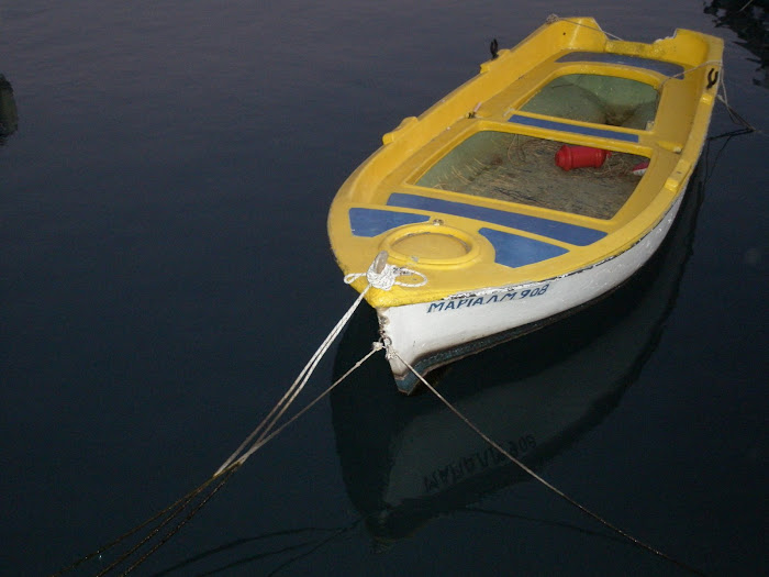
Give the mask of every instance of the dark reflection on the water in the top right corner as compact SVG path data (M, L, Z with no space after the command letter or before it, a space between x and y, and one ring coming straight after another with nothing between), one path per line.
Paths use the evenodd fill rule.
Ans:
M739 36L737 44L756 56L757 76L753 82L769 88L769 30L767 0L712 0L705 4L705 14L715 16L717 27L728 27Z

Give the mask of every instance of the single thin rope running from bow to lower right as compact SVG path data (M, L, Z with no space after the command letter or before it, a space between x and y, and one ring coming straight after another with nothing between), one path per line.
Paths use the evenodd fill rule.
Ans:
M582 503L580 503L579 501L577 501L577 500L573 499L572 497L569 497L567 493L565 493L564 491L561 491L558 487L556 487L555 485L548 482L548 481L547 481L546 479L544 479L542 476L537 475L532 468L530 468L530 467L526 466L524 463L522 463L520 459L517 459L517 458L515 458L513 455L511 455L511 454L510 454L508 451L505 451L499 443L497 443L493 439L491 439L491 437L490 437L489 435L487 435L483 431L481 431L472 421L470 421L467 417L465 417L456 407L454 407L454 404L452 404L443 395L441 395L441 393L437 391L437 389L436 389L435 387L433 387L430 382L427 382L427 380L426 380L420 373L417 373L416 369L415 369L414 367L412 367L406 360L404 360L404 359L398 354L398 352L394 351L394 349L392 348L392 346L387 346L387 353L388 353L388 355L391 355L391 356L398 358L401 363L403 363L403 364L409 368L409 370L411 370L411 371L420 379L420 381L421 381L425 387L427 387L427 389L428 389L433 395L435 395L435 397L437 397L438 400L441 400L441 402L443 402L443 403L446 406L446 408L447 408L449 411L452 411L454 414L456 414L467 426L469 426L472 431L475 431L483 441L486 441L487 443L489 443L489 445L491 445L493 448L495 448L497 451L499 451L499 452L500 452L502 455L504 455L504 457L506 457L511 463L514 463L517 467L520 467L522 470L524 470L527 475L530 475L534 480L536 480L537 482L539 482L540 485L543 485L545 488L547 488L548 490L550 490L551 492L554 492L555 495L557 495L558 497L560 497L561 499L564 499L564 500L565 500L566 502L568 502L569 504L576 507L577 509L579 509L580 511L582 511L582 512L583 512L584 514L587 514L588 517L594 519L595 521L598 521L599 523L601 523L601 524L604 525L605 528L608 528L608 529L610 529L611 531L613 531L614 533L618 534L618 535L622 536L623 539L626 539L626 540L629 541L631 543L637 545L638 547L644 548L644 550L646 550L646 551L648 551L648 552L650 552L650 553L657 555L658 557L664 558L664 559L666 559L666 561L668 561L668 562L675 564L675 565L677 565L678 567L680 567L680 568L682 568L682 569L686 569L686 570L688 570L688 572L690 572L690 573L692 573L692 574L694 574L694 575L703 575L703 576L705 575L705 574L702 573L701 570L699 570L699 569L696 569L696 568L694 568L694 567L692 567L692 566L690 566L690 565L687 565L686 563L680 562L680 561L678 561L677 558L671 557L670 555L668 555L668 554L666 554L666 553L662 553L662 552L659 551L658 548L653 547L651 545L649 545L649 544L647 544L647 543L640 541L640 540L637 539L637 537L634 537L634 536L631 535L627 531L624 531L624 530L620 529L618 526L616 526L615 524L611 523L611 522L608 521L606 519L602 518L602 517L599 515L598 513L594 513L593 511L591 511L590 509L588 509L586 506L583 506Z

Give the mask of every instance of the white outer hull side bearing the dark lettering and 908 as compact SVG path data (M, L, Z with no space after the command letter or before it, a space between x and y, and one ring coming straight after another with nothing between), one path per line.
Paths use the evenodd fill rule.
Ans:
M682 187L686 190L686 187ZM388 355L398 387L412 392L420 374L558 319L625 282L659 248L683 195L638 243L624 253L542 282L494 287L472 295L377 309L382 336L397 355ZM402 359L402 360L401 360Z

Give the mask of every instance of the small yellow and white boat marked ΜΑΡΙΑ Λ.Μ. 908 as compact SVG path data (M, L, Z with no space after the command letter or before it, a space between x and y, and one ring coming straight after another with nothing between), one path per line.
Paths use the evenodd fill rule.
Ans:
M402 391L410 367L553 322L648 260L702 151L722 52L688 30L645 44L556 19L384 134L328 235Z

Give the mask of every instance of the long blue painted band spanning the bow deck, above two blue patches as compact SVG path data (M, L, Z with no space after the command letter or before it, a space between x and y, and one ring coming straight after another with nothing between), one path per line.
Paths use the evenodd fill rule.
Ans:
M519 214L516 212L506 212L486 207L476 207L465 202L454 202L449 200L441 200L435 198L420 197L416 195L404 195L393 192L387 201L390 207L399 207L404 209L416 209L431 212L441 212L444 214L454 214L455 217L464 217L473 219L509 229L517 229L533 234L539 234L554 238L564 243L575 244L578 246L587 246L603 238L606 233L568 224L566 222L554 221L549 219L540 219L538 217L530 217L527 214Z

